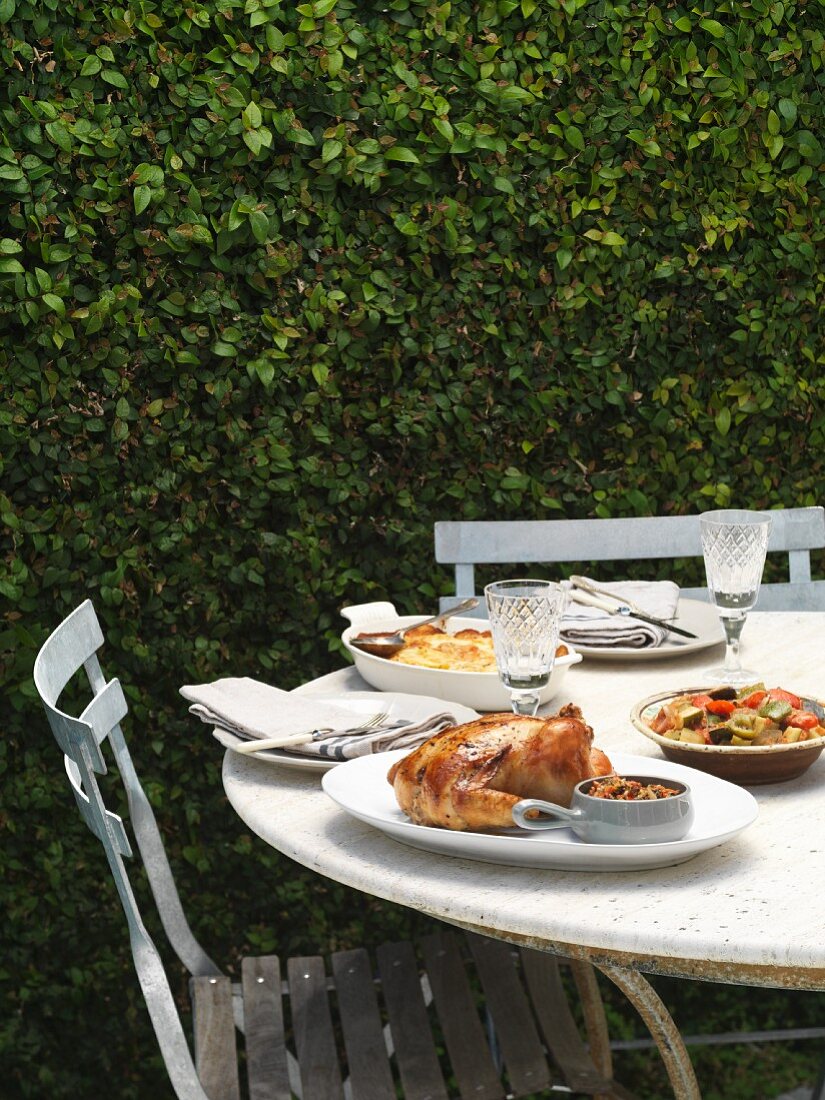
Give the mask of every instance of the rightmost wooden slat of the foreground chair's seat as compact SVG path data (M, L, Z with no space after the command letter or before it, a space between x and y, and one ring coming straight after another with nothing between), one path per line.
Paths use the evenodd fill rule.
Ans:
M558 959L547 952L524 948L521 965L544 1042L569 1087L578 1092L609 1093L608 1081L596 1069L579 1034Z

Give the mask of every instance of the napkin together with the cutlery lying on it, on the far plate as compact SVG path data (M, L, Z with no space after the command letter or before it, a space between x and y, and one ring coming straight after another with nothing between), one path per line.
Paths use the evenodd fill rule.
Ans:
M571 604L561 624L561 636L572 645L648 649L661 646L669 632L695 635L673 627L679 585L672 581L616 581L597 585L587 578L571 578ZM627 610L622 610L626 607Z

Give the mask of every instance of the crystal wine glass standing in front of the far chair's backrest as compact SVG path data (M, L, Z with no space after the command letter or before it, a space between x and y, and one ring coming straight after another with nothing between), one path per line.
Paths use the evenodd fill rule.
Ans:
M759 680L741 667L739 638L759 595L771 517L767 512L723 508L700 516L702 552L711 598L725 629L725 664L710 669L714 683L744 686Z

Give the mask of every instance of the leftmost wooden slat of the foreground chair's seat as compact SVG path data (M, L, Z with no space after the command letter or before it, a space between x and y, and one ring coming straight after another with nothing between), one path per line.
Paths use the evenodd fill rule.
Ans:
M240 1100L232 982L193 978L195 1066L209 1100Z

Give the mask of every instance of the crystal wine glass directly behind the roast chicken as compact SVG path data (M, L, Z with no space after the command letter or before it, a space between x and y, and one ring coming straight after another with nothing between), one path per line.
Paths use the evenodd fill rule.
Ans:
M534 715L550 680L569 585L553 581L496 581L484 590L498 675L514 714Z

